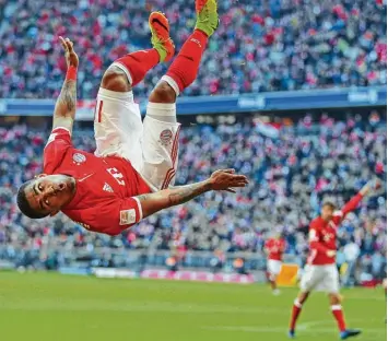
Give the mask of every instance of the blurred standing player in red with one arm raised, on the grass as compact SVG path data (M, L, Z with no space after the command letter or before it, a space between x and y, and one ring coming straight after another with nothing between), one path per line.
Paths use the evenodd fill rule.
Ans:
M311 291L324 291L329 295L331 311L337 320L341 340L355 337L361 333L357 329L346 329L345 319L341 307L339 294L339 273L336 264L337 228L346 214L355 210L371 188L378 188L379 183L365 185L340 211L331 202L324 203L320 216L311 221L309 226L309 255L305 272L301 280L301 293L294 302L289 336L295 337L296 320L301 314L303 304Z

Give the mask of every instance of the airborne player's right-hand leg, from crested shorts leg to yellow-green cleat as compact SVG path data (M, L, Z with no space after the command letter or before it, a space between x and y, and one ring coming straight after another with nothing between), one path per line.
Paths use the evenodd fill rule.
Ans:
M179 132L176 97L197 78L208 39L219 24L216 0L196 0L196 11L195 32L149 97L144 119L144 165L140 174L154 190L174 184Z

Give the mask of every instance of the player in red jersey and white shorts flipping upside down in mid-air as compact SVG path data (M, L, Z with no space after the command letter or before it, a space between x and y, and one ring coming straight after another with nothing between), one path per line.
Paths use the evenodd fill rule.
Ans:
M174 56L164 14L150 15L152 49L124 56L107 69L95 108L94 154L71 143L79 59L72 42L60 38L68 72L44 151L44 174L23 184L17 192L17 204L25 215L40 219L62 211L90 231L117 235L145 216L207 191L234 192L233 188L248 184L234 169L224 169L204 181L172 187L180 127L175 102L195 81L208 39L219 25L216 0L196 0L196 13L192 35L149 97L144 122L133 102L132 86L158 62Z

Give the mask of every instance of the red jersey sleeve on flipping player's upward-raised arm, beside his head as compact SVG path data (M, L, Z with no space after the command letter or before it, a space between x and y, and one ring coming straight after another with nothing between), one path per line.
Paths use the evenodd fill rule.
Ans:
M54 129L43 154L46 174L52 174L60 166L69 148L72 148L70 131L66 128Z

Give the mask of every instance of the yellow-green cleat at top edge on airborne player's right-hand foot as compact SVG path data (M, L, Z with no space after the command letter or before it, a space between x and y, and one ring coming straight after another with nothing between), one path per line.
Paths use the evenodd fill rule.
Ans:
M196 30L204 32L210 37L220 23L216 0L196 0Z

